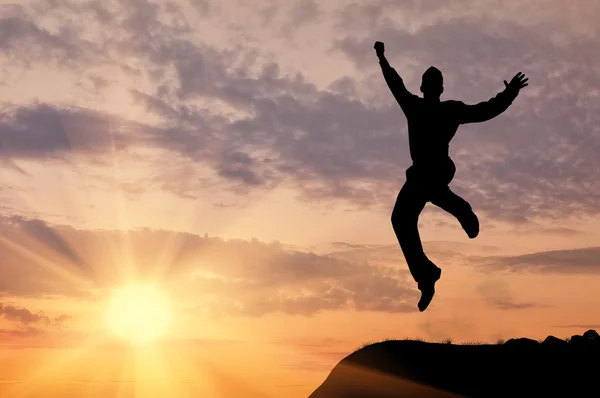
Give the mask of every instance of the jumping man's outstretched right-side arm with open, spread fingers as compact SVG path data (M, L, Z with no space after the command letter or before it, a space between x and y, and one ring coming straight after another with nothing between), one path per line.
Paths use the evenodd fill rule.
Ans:
M504 81L505 89L489 101L480 102L476 105L461 105L457 108L457 118L460 124L480 123L493 119L508 109L513 103L519 91L528 85L525 75L517 73L510 83Z

